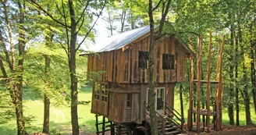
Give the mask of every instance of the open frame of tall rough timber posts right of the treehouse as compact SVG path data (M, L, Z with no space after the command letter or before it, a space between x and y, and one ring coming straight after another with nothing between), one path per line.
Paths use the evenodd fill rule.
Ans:
M211 80L211 49L212 49L212 33L209 34L209 44L208 44L208 74L207 74L207 80L201 80L201 55L202 55L202 37L198 36L198 53L197 53L197 80L194 80L194 59L193 57L190 57L190 104L189 104L189 110L187 115L187 127L191 131L193 127L193 121L192 121L192 113L197 115L196 119L196 128L197 132L204 131L201 130L200 120L201 115L206 115L206 124L207 126L207 132L210 132L210 116L213 116L214 120L214 127L213 129L215 131L222 130L222 58L223 58L223 46L224 46L224 40L225 37L222 37L222 41L219 42L218 47L218 58L217 58L217 76L216 80ZM193 108L193 84L197 83L197 107ZM203 83L207 84L207 90L206 90L206 109L202 109L200 107L200 101L201 101L201 85ZM210 89L211 84L215 84L215 106L214 111L210 110ZM203 123L204 124L204 123Z

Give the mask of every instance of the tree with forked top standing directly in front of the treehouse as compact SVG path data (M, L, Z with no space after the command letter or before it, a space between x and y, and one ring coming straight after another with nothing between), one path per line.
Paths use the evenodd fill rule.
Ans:
M158 8L159 5L162 4L162 16L158 28L158 32L155 32L155 20L153 13ZM153 8L152 0L149 0L148 3L148 16L149 16L149 23L150 23L150 43L149 43L149 70L148 70L148 83L149 83L149 90L148 90L148 104L149 104L149 113L150 113L150 120L151 120L151 134L157 135L158 134L158 125L155 113L155 41L157 41L160 37L162 37L162 30L165 23L165 18L167 13L169 12L169 6L171 4L171 0L162 1L159 0L158 4Z

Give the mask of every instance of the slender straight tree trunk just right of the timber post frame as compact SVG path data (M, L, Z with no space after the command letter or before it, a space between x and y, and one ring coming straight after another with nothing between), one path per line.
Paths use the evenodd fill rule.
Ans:
M231 24L231 30L230 30L230 34L231 34L231 49L229 52L229 62L230 62L230 66L229 66L229 78L230 78L230 82L229 82L229 105L228 105L228 112L229 112L229 124L230 125L235 125L234 122L234 109L233 109L233 96L234 96L234 87L233 87L233 70L234 70L234 66L233 66L233 46L234 46L234 34L233 34L233 24Z

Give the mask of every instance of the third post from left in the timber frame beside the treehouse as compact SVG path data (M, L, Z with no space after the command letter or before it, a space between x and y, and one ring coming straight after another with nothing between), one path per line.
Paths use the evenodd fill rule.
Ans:
M208 63L207 63L207 90L206 90L206 109L207 109L207 117L206 117L206 126L207 132L210 132L210 79L211 79L211 48L212 48L212 32L210 32L210 39L208 45Z

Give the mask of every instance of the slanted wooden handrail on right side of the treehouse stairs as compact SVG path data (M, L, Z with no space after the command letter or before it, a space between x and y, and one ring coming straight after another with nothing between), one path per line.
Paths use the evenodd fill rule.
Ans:
M184 126L184 123L185 123L184 117L182 115L180 115L180 113L177 112L176 109L174 109L172 107L172 105L169 105L168 102L165 101L165 105L166 105L165 109L167 108L169 110L169 112L171 112L172 115L174 115L176 117L176 119L178 119L181 122L181 124L180 124L175 119L172 119L173 123L176 123L176 126L180 126L180 130L183 131L183 126Z

